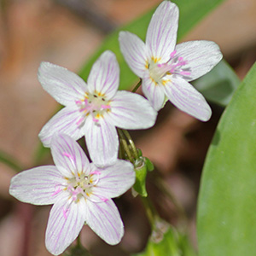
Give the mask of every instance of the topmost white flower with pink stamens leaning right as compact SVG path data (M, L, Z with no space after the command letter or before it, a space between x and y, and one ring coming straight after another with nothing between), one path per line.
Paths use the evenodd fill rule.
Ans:
M162 108L167 96L177 108L207 121L211 108L189 81L209 72L222 54L210 41L175 46L177 22L177 5L164 1L149 23L146 43L131 32L120 32L120 49L131 70L143 79L143 93L154 109Z

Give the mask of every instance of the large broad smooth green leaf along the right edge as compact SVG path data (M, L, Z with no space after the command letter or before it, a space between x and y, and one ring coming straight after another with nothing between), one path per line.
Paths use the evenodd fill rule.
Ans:
M207 153L197 216L201 256L256 255L256 64Z

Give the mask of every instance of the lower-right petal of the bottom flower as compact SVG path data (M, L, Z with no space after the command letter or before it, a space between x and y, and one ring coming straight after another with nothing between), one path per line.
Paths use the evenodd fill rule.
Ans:
M87 200L87 224L108 244L115 245L124 236L124 224L119 215L119 210L110 199L102 203Z

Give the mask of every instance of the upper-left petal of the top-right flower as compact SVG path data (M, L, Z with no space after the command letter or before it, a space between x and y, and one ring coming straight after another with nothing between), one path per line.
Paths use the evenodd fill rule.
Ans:
M119 44L128 66L138 77L143 78L148 59L143 40L131 32L119 32Z

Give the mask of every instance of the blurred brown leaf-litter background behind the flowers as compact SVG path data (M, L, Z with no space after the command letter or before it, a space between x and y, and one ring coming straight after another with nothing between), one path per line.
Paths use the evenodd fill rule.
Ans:
M34 166L38 132L58 108L38 83L41 61L78 73L108 33L160 2L0 0L0 151L14 156L24 169ZM224 1L183 41L195 39L216 42L243 79L256 60L256 1ZM153 129L131 134L185 209L195 247L201 168L224 110L214 104L211 107L212 119L201 123L168 103ZM15 171L0 162L0 255L50 255L44 247L50 207L33 207L11 198L9 181L14 175ZM179 213L156 188L154 175L149 175L147 185L161 217L175 225ZM146 244L150 229L141 202L129 192L116 203L125 222L125 237L119 246L109 247L84 228L82 243L94 255L125 256L143 250Z

